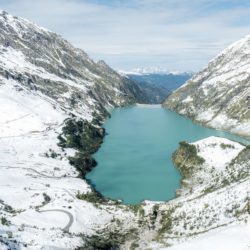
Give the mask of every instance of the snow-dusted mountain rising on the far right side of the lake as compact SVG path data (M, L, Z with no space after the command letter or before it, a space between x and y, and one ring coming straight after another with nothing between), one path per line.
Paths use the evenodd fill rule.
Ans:
M250 137L250 35L226 48L164 106L208 126Z

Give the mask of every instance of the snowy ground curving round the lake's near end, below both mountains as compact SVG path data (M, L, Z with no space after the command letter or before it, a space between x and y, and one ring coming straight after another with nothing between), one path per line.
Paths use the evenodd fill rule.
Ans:
M0 120L0 218L6 219L0 223L2 249L6 245L12 249L74 249L85 244L85 237L100 235L100 231L127 235L121 249L135 243L137 249L169 245L186 249L196 242L205 244L207 237L221 242L227 232L239 235L233 242L238 249L249 244L248 239L241 241L249 234L244 221L249 221L250 166L244 146L215 137L195 142L205 163L183 182L179 198L142 205L144 216L126 206L92 204L77 198L90 187L77 178L67 160L74 151L57 146L67 110L29 89L20 91L21 87L2 79L0 88L0 112L4 114ZM56 158L46 156L50 150L57 153ZM242 152L239 161L230 165ZM224 179L229 182L225 184ZM217 249L211 242L209 246Z

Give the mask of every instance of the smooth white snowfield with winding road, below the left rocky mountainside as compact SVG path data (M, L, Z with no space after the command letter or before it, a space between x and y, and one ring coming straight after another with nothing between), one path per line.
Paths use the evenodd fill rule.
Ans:
M13 80L1 80L0 218L7 220L0 223L1 244L11 249L74 249L83 245L83 235L104 227L114 215L129 225L130 212L77 199L77 193L91 188L68 162L74 151L57 146L67 112L37 93L20 91ZM51 150L56 158L46 156Z

